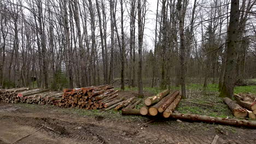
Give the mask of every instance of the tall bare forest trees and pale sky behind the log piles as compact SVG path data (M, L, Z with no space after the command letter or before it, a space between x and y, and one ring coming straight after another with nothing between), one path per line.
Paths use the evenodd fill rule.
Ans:
M214 83L231 98L256 77L255 2L1 0L0 86L181 86L186 98L188 83Z

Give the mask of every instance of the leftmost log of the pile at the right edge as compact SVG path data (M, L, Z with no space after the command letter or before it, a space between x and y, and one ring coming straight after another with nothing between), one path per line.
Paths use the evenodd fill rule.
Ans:
M235 101L231 100L230 98L224 98L224 101L226 105L229 106L229 109L233 112L235 117L244 118L248 115L246 109L236 104Z

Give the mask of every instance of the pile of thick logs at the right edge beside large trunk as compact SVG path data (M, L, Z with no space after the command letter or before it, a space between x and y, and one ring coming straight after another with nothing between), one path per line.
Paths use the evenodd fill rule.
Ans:
M235 117L256 119L256 95L250 93L234 94L235 100L224 98Z

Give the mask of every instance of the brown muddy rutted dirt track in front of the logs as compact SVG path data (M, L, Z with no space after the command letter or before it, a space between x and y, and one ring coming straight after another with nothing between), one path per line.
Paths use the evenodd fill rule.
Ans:
M10 143L45 127L17 143L255 143L256 130L203 123L142 122L117 118L78 116L59 108L0 103L0 143ZM150 119L148 119L150 121ZM144 123L144 122L143 122Z

